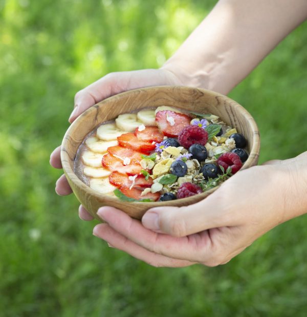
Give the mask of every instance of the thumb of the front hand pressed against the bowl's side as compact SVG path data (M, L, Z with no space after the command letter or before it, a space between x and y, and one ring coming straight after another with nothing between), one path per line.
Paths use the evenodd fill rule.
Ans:
M227 212L227 198L221 197L222 192L218 191L193 205L151 208L144 214L142 224L150 230L173 237L185 237L206 229L229 226L233 219L227 216L231 214Z

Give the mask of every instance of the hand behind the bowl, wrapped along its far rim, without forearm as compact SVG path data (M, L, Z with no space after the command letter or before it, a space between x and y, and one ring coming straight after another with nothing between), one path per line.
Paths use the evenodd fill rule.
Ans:
M182 84L173 72L165 69L110 73L76 93L75 107L69 118L69 122L72 123L81 113L95 103L121 92L141 87L180 86ZM61 147L58 146L50 156L50 164L54 168L62 168L60 151ZM61 196L72 193L65 175L62 175L57 180L55 191Z

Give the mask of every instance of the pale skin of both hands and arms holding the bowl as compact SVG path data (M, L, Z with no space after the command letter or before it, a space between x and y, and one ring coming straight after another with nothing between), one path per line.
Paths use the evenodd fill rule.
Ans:
M79 91L69 121L100 100L140 87L185 85L227 94L306 18L306 0L221 0L161 69L111 73ZM61 168L59 152L57 147L51 155L55 168ZM105 223L93 234L153 266L215 266L307 213L306 188L304 152L240 171L194 205L149 209L142 222L102 207L98 215ZM72 193L63 175L56 192ZM79 216L92 220L83 206Z

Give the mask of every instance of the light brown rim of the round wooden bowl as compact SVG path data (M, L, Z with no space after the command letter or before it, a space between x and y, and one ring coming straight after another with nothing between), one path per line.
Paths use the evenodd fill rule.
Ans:
M210 90L203 89L203 88L188 87L188 86L151 86L151 87L145 87L145 88L138 88L138 89L129 90L129 91L125 91L125 92L116 94L114 96L108 97L108 98L92 105L89 109L84 111L80 116L78 116L76 118L76 120L69 126L68 130L64 134L64 137L63 137L63 140L61 143L61 151L60 151L61 163L62 163L62 168L63 168L64 174L68 175L68 177L71 179L71 181L77 187L84 189L88 195L94 196L96 199L98 199L100 201L107 200L110 205L112 205L113 202L117 203L119 201L119 198L117 198L117 197L108 196L108 195L96 192L90 186L86 185L83 181L81 181L78 178L78 176L75 174L73 168L71 167L71 165L69 163L71 158L69 157L68 152L66 150L63 150L63 149L65 149L65 144L70 141L71 133L76 129L79 121L82 120L82 117L87 116L87 115L91 114L92 112L93 113L97 112L97 108L103 107L103 105L105 103L108 103L109 101L117 100L120 98L124 98L126 95L133 94L134 92L141 92L141 91L146 92L146 91L150 91L152 89L161 89L161 90L185 89L185 90L190 90L190 91L196 90L196 91L199 91L201 93L209 94L215 98L216 97L226 98L229 100L230 104L235 103L236 107L240 108L240 112L242 114L244 114L245 117L248 117L248 123L249 123L250 128L253 132L253 146L252 146L252 149L250 151L249 158L247 159L246 162L244 162L244 164L240 170L244 170L245 168L248 168L248 167L251 167L251 166L257 164L258 157L259 157L259 150L260 150L260 134L259 134L258 126L257 126L254 118L252 117L252 115L242 105L237 103L235 100L233 100L225 95L222 95L220 93L214 92L214 91L210 91ZM88 132L88 133L90 133L90 132ZM83 141L84 141L84 138L80 142L80 144ZM253 157L251 157L252 153L254 154ZM76 153L75 153L75 157L76 157ZM75 160L75 157L74 157L74 160ZM211 188L208 191L203 192L202 194L198 194L197 196L199 197L199 200L202 200L202 198L205 198L208 195L210 195L211 193L215 192L216 189L218 189L222 184L217 185L214 188ZM182 202L182 205L189 205L190 203L191 204L195 203L194 199L195 199L195 196L190 196L190 197L186 197L186 198L181 198L180 202ZM124 202L124 201L121 201L121 202ZM153 207L153 206L157 206L157 207L159 207L159 206L174 206L173 200L170 200L170 201L151 201L151 202L133 201L133 202L127 202L127 203L138 204L138 205L142 205L144 207L147 206L148 208Z

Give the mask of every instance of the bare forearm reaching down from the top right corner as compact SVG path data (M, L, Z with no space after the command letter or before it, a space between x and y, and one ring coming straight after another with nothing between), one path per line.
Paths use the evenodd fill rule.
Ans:
M306 0L220 0L162 68L227 94L306 18Z

